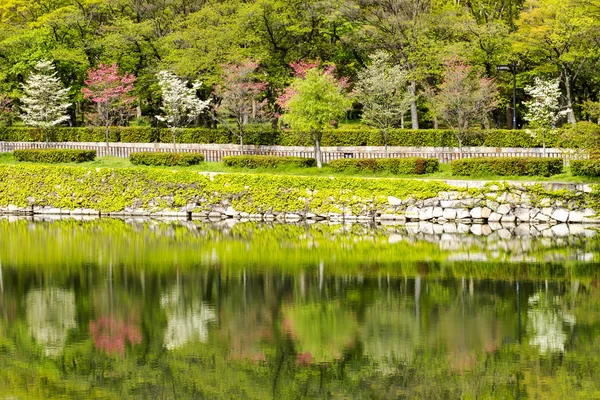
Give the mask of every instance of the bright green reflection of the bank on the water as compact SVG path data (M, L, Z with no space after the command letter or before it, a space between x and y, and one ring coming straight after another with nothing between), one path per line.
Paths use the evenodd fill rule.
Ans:
M579 250L598 253L594 239L573 239L567 246L529 243L534 262L510 262L510 254L489 262L450 261L454 254L437 242L400 232L404 240L390 243L390 231L318 224L265 225L241 223L215 229L206 223L154 222L130 225L121 220L73 220L37 223L0 220L0 261L20 269L53 273L76 272L87 264L129 271L172 272L218 268L223 274L274 271L327 275L438 276L496 279L570 279L593 277L597 263L576 261ZM457 236L460 243L460 237ZM570 250L569 250L570 249ZM465 242L461 252L481 252ZM496 257L496 258L494 258ZM548 259L561 261L547 262ZM597 257L596 257L597 259Z

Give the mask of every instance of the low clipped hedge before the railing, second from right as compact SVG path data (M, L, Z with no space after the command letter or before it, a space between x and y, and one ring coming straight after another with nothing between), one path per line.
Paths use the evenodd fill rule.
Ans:
M482 157L452 161L452 175L457 176L552 176L562 169L559 158Z

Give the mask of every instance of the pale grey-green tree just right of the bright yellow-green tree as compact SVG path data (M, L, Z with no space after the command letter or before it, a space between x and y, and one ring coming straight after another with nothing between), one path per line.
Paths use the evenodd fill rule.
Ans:
M356 100L363 105L362 121L381 130L386 156L388 131L398 122L404 128L404 114L413 100L406 90L407 72L390 61L383 51L373 54L371 65L358 74L354 87Z

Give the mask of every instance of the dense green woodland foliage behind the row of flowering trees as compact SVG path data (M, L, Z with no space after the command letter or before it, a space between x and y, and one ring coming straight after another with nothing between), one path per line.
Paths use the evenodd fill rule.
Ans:
M117 63L121 76L136 80L134 123L157 124L164 116L157 71L202 80L197 94L217 107L216 85L225 88L231 66L251 59L251 83L267 84L256 104L266 101L277 118L276 99L291 83L294 63L335 64L336 75L353 84L370 56L383 51L403 71L413 129L435 124L422 94L439 86L444 62L455 55L494 79L501 99L511 97L512 77L496 66L516 62L519 125L523 89L535 77L560 80L561 106L569 110L560 123L596 121L599 10L598 0L3 0L0 93L19 110L20 83L38 61L53 60L70 88L69 123L82 125L95 111L81 91L88 70ZM490 114L491 126L510 127L508 103ZM360 106L348 115L358 118ZM245 110L243 123L257 115L256 107ZM194 123L214 120L212 109Z

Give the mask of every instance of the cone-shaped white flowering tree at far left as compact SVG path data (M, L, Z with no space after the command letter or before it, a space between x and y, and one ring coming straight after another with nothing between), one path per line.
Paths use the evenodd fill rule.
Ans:
M69 120L69 88L62 85L49 60L39 61L21 87L25 92L21 98L21 119L25 125L42 129L48 143L50 129Z

